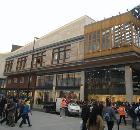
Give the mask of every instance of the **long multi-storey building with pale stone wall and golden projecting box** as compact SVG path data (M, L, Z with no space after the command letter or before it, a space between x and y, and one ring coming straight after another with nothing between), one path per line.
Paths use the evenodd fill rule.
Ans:
M139 14L138 6L99 22L84 16L12 52L5 92L26 95L31 69L35 99L139 101Z

